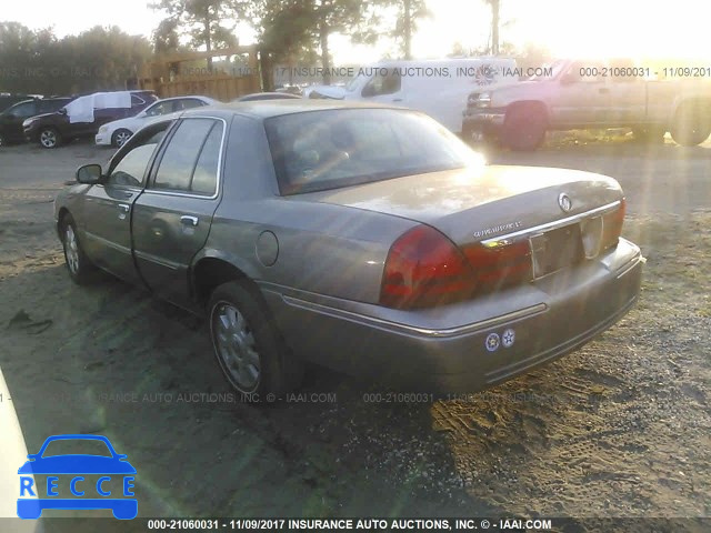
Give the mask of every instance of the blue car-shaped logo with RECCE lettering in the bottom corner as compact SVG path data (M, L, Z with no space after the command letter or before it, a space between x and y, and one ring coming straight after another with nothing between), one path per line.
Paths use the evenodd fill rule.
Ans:
M111 456L90 454L63 454L42 456L47 446L54 441L101 441ZM138 514L138 500L132 492L136 469L127 461L127 455L116 453L109 439L103 435L54 435L44 441L40 451L29 454L29 459L20 470L20 497L18 499L18 516L21 519L39 519L44 509L96 510L110 509L113 516L131 520ZM47 475L47 486L34 485L34 475ZM82 475L83 474L83 475ZM84 475L97 479L91 484ZM71 494L77 497L58 497L57 486L63 480L68 482ZM114 477L122 477L123 497L117 497ZM69 481L70 480L70 481ZM111 484L111 489L109 487ZM112 493L113 490L113 493ZM96 497L93 497L96 495ZM24 497L23 497L24 496Z

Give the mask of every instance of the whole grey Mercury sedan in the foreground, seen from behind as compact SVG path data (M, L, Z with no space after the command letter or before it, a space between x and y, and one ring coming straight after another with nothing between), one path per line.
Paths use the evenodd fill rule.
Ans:
M400 108L191 110L77 181L54 203L70 278L103 269L206 313L248 399L297 386L304 360L477 391L584 344L640 291L615 180L487 167Z

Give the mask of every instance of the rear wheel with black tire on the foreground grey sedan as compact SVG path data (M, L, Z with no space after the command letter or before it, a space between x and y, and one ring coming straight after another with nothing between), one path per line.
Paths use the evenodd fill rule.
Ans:
M248 401L273 402L300 384L302 363L287 349L258 290L247 282L223 283L212 292L208 324L224 378Z

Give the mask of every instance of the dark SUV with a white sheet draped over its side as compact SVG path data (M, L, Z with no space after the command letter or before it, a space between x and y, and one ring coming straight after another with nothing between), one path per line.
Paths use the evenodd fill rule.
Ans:
M24 137L42 148L93 137L107 122L133 117L158 100L153 91L98 92L79 97L54 113L40 114L22 123Z

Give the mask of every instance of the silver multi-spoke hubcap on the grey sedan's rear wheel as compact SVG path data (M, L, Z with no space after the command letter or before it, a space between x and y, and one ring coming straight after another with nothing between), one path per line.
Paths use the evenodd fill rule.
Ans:
M212 312L214 348L222 366L239 389L249 392L259 384L260 358L254 335L237 308L220 302Z

